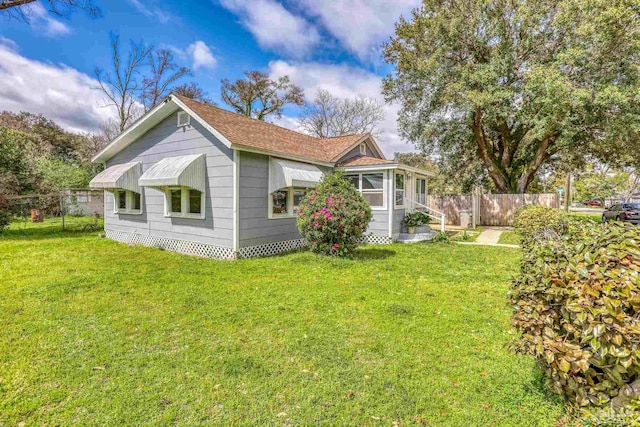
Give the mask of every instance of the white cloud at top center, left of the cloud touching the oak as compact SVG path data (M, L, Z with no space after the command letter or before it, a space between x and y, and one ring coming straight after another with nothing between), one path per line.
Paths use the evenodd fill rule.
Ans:
M320 41L316 28L274 0L221 0L263 48L302 58Z

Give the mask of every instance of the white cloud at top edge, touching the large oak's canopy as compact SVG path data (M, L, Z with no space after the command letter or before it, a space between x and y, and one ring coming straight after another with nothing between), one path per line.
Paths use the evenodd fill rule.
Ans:
M420 0L301 0L311 15L360 59L379 58L394 23L420 6Z

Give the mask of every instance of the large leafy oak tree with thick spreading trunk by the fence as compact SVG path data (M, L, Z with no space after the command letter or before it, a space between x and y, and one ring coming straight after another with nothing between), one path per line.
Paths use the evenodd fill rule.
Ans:
M424 0L384 49L401 134L444 161L481 159L504 193L526 192L553 160L634 149L639 11L637 0Z

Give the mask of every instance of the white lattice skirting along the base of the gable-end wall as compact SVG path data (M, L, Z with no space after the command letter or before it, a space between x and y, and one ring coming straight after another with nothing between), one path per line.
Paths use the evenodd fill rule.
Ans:
M196 255L213 259L235 259L233 249L221 246L207 245L204 243L190 242L188 240L167 239L164 237L147 236L138 233L125 233L122 231L105 232L109 239L130 245L143 245L152 248L163 249L169 252L178 252L185 255Z

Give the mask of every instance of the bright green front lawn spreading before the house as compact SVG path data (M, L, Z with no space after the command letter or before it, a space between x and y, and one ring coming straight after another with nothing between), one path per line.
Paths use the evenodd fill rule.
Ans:
M0 426L565 417L533 361L508 349L517 249L217 262L49 226L0 237Z

